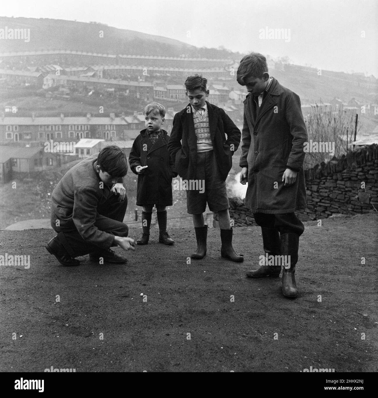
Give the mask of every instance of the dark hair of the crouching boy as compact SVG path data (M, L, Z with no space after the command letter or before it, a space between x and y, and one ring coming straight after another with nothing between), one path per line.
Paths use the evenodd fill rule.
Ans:
M102 172L108 172L112 177L123 177L127 174L127 156L119 146L103 148L98 154L97 164Z

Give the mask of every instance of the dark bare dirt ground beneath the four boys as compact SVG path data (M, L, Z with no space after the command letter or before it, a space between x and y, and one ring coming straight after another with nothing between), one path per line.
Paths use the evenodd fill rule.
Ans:
M306 222L296 299L280 279L245 276L263 254L257 227L234 228L243 263L220 257L211 228L207 256L188 264L194 229L177 228L173 246L153 235L125 265L79 267L45 250L53 230L0 231L0 254L30 256L29 269L0 267L0 371L376 372L377 221Z

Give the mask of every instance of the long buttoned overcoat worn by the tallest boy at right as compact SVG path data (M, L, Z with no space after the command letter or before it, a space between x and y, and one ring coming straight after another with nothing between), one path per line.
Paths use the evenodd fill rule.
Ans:
M256 110L257 109L257 110ZM303 171L307 130L299 96L273 78L261 107L248 94L240 167L248 167L245 206L252 213L282 214L306 209ZM293 185L284 187L286 168L297 171Z

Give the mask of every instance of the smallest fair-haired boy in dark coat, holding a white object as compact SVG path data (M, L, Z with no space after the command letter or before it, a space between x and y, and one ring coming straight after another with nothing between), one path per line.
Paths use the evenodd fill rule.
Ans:
M166 230L166 206L172 206L172 177L177 173L167 149L169 135L161 128L164 117L165 107L160 103L152 102L145 107L146 129L135 139L129 155L131 171L138 175L137 206L143 206L143 233L137 240L138 245L146 245L149 241L154 205L159 242L166 245L174 243Z

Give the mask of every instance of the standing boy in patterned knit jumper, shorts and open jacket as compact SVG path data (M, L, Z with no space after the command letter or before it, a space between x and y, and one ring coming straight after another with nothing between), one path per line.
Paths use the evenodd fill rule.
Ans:
M217 212L219 217L221 256L243 261L243 256L232 247L225 183L241 133L223 109L206 101L209 96L207 83L198 74L186 79L189 104L174 116L168 150L176 171L189 187L186 189L186 203L188 213L193 215L197 238L197 250L191 257L201 259L206 255L208 226L204 224L203 213L208 203L209 209ZM198 189L200 182L204 189Z

